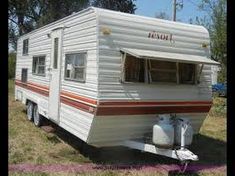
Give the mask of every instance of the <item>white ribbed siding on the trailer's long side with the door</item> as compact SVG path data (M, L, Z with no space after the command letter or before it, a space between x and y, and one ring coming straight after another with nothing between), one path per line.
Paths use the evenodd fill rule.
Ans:
M46 25L19 38L17 45L16 80L21 80L21 69L28 68L28 82L49 87L49 72L51 57L51 39L47 34L52 29L66 26L63 32L62 65L61 65L61 91L79 94L84 97L97 99L97 30L96 13L92 8L83 12L65 17L62 20ZM29 38L29 51L27 56L22 55L23 40ZM64 80L65 54L72 52L87 52L86 82ZM32 74L32 57L46 56L46 75L36 76ZM55 85L57 86L57 85ZM36 103L43 101L43 110L48 113L48 97L16 86L16 92L23 92L24 99L30 99ZM41 108L41 104L39 104ZM47 117L46 114L43 114ZM59 126L86 141L94 115L69 107L60 103Z

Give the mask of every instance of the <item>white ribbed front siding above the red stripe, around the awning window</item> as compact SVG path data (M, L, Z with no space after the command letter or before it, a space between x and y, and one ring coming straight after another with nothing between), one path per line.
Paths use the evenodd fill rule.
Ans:
M99 100L210 100L211 70L204 66L199 85L122 84L120 48L135 48L209 56L208 31L202 26L141 17L98 9L99 14ZM110 35L101 29L108 27ZM151 31L171 33L175 43L148 38Z

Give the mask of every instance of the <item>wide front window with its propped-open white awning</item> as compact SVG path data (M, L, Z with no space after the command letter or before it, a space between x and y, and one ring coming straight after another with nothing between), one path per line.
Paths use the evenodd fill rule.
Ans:
M121 52L123 82L198 84L205 64L219 64L195 55L129 48Z

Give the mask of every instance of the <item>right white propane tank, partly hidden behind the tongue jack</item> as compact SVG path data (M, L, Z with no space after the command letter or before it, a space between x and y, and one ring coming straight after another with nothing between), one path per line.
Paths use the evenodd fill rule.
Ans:
M184 129L184 144L188 146L193 141L193 128L190 124L190 120L187 118L177 118L175 121L175 144L181 145L181 128Z

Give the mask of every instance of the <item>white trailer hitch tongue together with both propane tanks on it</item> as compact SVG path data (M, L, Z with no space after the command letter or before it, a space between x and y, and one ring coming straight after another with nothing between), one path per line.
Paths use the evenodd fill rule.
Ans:
M186 118L172 117L169 114L159 115L159 122L153 126L152 141L144 139L126 140L120 145L177 159L187 169L190 161L198 161L197 155L186 147L192 143L193 129Z

